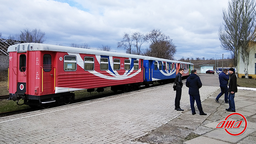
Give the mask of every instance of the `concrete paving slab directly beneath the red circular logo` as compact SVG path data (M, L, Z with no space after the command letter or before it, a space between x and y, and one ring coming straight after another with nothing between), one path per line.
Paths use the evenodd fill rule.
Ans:
M203 136L210 137L212 139L222 140L229 143L236 143L237 141L243 139L244 137L248 136L249 134L255 132L254 129L246 129L246 131L240 136L231 136L226 131L221 131L219 129L215 129L214 131L208 132Z

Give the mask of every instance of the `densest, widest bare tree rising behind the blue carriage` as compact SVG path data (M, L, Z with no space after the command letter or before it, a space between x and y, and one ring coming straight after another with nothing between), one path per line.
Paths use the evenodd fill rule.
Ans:
M160 30L152 30L146 38L150 41L150 47L146 55L164 59L174 59L176 46L172 43L169 36L163 34Z

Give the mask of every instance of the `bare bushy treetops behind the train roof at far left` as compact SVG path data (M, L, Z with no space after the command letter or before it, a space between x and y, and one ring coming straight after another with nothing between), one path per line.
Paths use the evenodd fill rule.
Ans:
M20 34L16 35L16 40L29 43L44 43L46 40L45 32L42 32L40 29L37 30L35 28L32 31L30 31L29 29L24 29L20 32Z

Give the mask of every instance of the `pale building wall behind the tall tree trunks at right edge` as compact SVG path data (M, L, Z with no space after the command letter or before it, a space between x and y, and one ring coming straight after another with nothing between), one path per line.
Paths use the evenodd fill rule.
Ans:
M244 76L244 62L242 61L241 54L238 52L238 65L237 65L238 77ZM249 77L256 78L256 44L252 46L249 54L249 65L248 65Z

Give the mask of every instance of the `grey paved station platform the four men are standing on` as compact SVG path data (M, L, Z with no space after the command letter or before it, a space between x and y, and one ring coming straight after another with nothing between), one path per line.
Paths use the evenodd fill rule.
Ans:
M181 108L185 111L174 110L176 92L172 89L173 84L168 84L0 118L0 143L255 143L256 91L238 90L235 95L236 110L248 120L248 129L234 138L224 130L216 129L217 124L230 114L225 110L228 104L223 102L224 96L219 99L220 103L214 100L220 90L216 84L210 84L216 80L218 83L218 77L203 77L200 96L207 116L200 116L198 111L191 114L185 86L181 96Z

